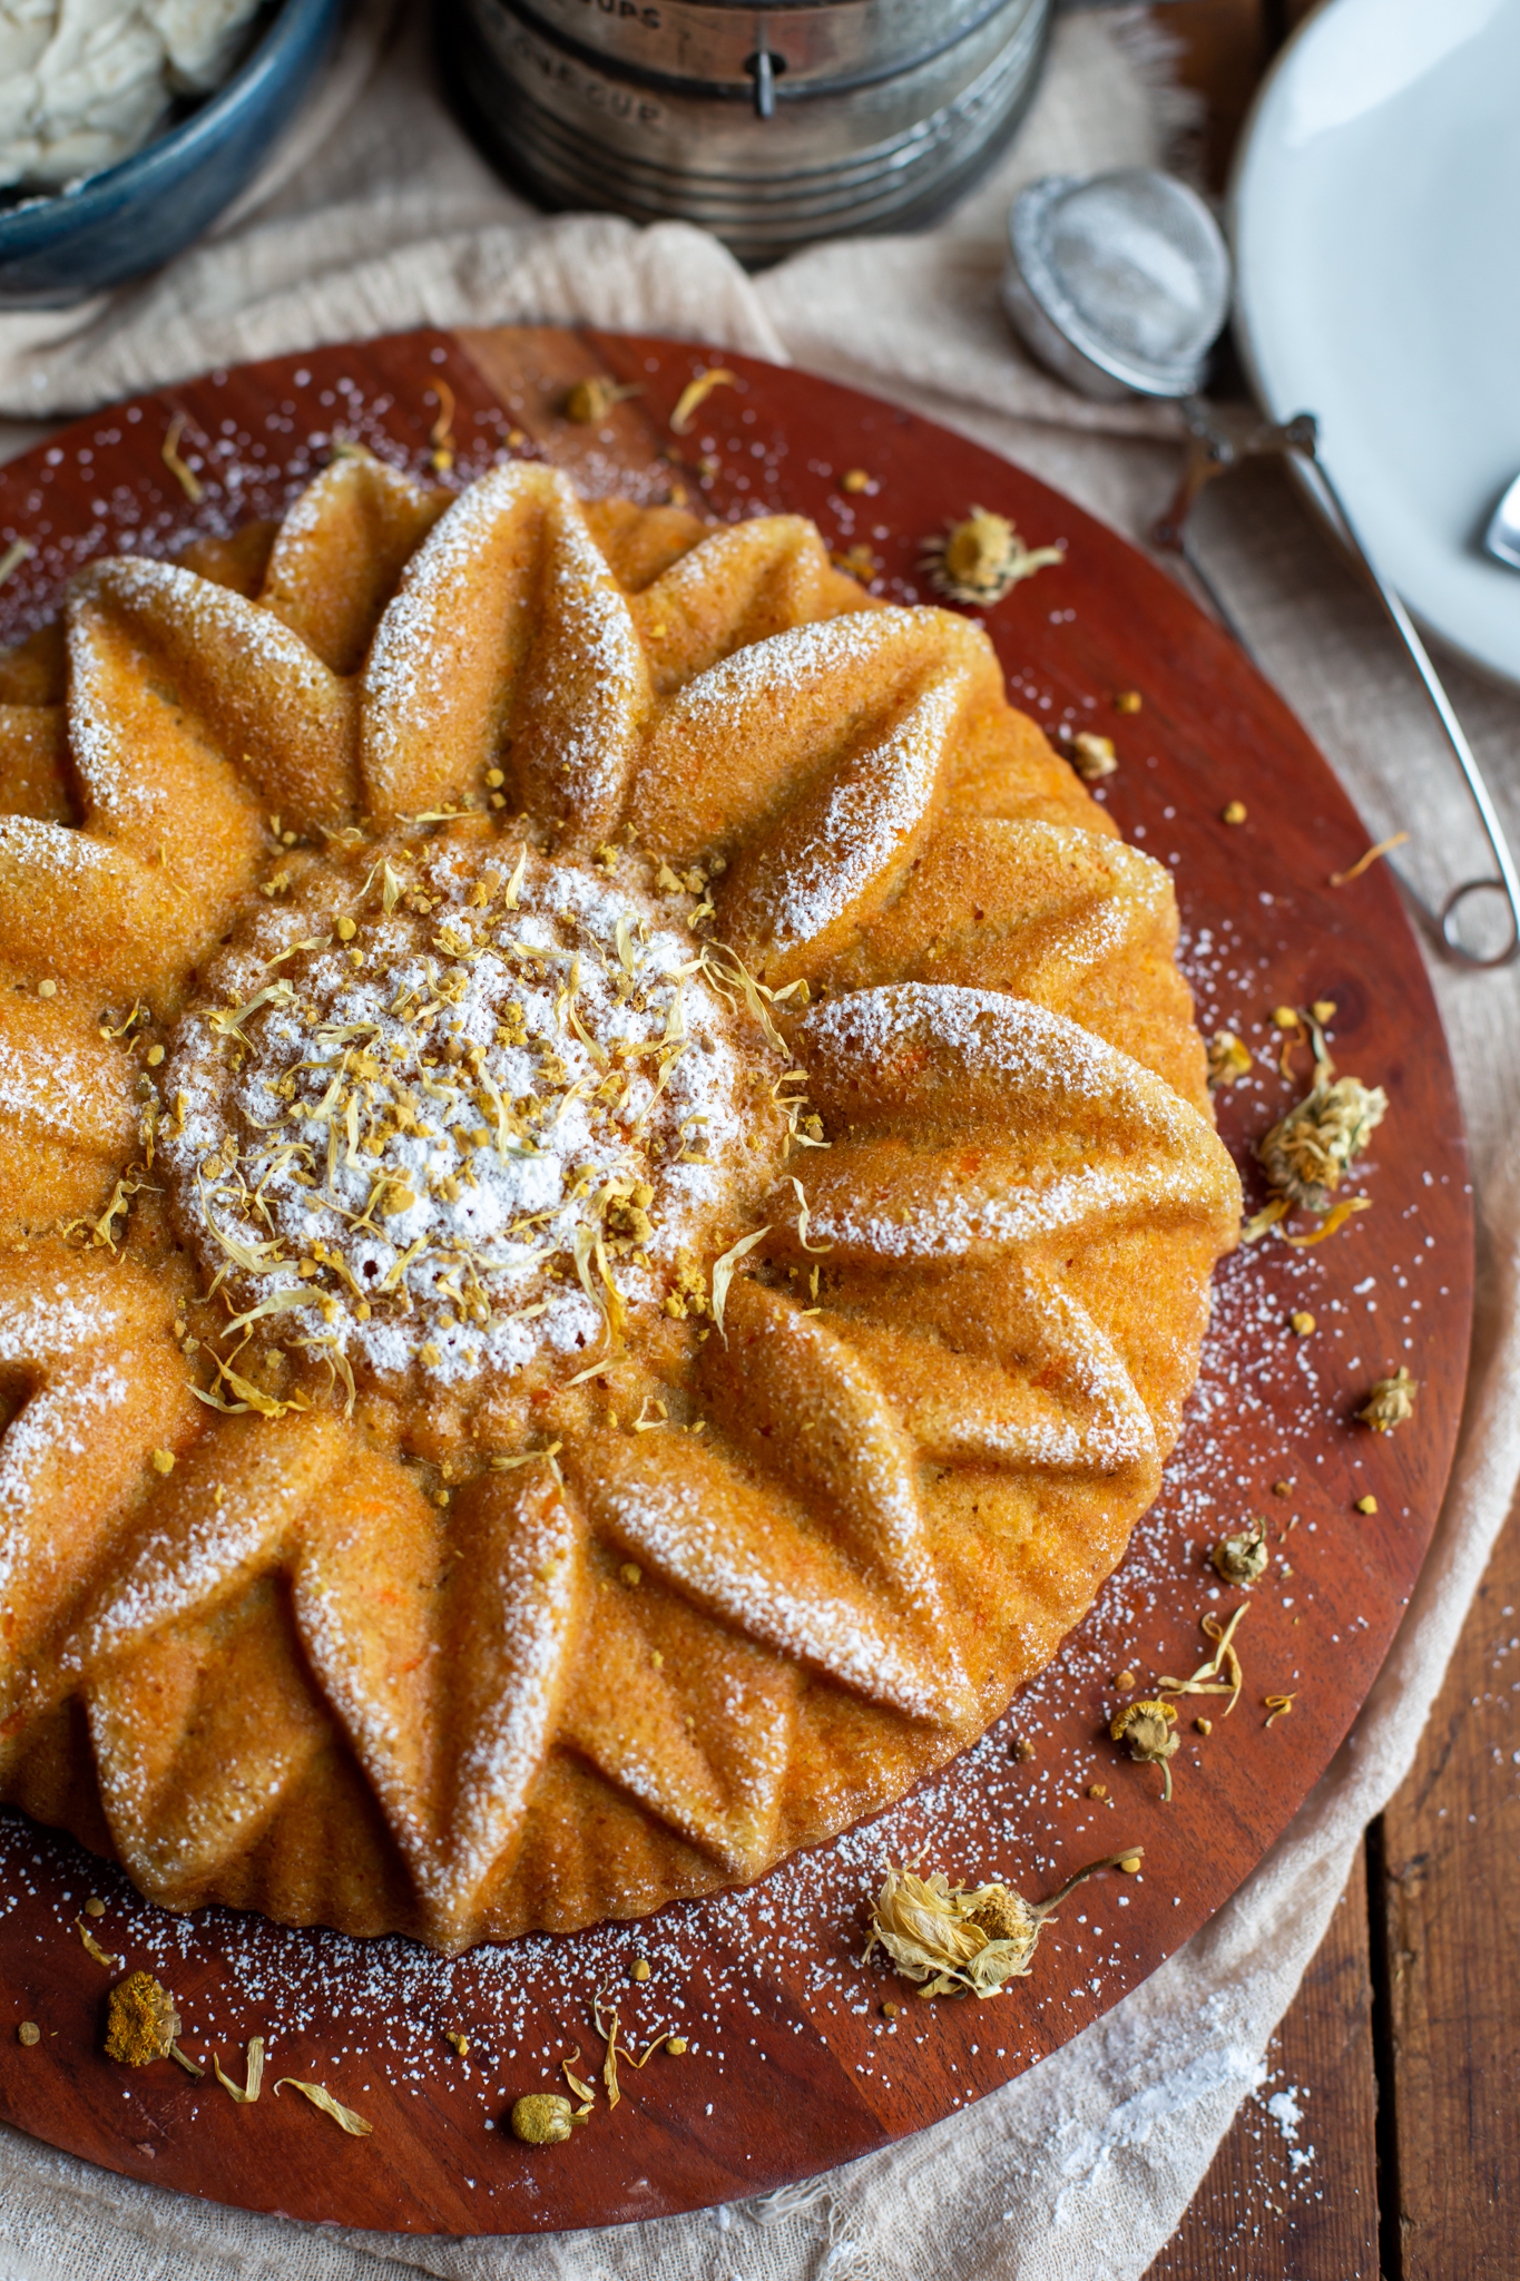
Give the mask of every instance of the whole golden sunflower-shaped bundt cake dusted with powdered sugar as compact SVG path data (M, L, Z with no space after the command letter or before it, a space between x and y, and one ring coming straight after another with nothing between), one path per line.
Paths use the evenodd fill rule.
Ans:
M0 700L0 1795L458 1950L980 1734L1240 1211L1171 880L987 636L349 454Z

